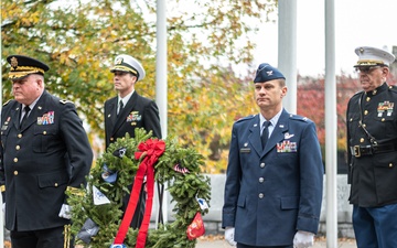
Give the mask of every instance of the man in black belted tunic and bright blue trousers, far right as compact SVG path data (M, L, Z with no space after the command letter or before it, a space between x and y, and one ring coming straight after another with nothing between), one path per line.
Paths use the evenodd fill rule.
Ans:
M358 248L397 247L397 87L386 83L395 56L369 46L355 53L363 90L346 111L353 227Z

